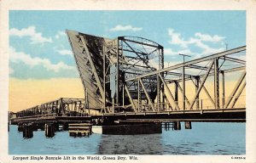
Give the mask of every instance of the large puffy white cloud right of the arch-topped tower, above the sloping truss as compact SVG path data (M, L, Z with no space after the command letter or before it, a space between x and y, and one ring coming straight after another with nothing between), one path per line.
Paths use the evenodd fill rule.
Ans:
M168 29L168 36L171 37L169 41L172 45L177 45L182 48L177 52L173 52L172 49L167 48L166 54L175 54L175 53L186 53L186 54L195 54L196 57L206 54L219 53L224 51L224 37L218 35L208 35L202 34L201 32L196 32L194 37L189 37L189 39L184 39L181 33L174 31L172 28ZM208 43L214 43L219 48L212 48ZM189 46L195 46L196 48L201 49L201 53L191 52ZM216 46L215 46L216 47Z

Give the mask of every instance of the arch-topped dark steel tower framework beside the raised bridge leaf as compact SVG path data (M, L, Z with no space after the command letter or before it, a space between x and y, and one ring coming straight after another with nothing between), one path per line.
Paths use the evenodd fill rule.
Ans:
M126 81L131 77L157 70L149 62L150 59L156 60L159 70L164 68L164 53L160 44L142 37L118 37L111 42L106 42L103 47L103 111L105 113L127 111L129 108L136 112L156 110L153 105L154 99L157 98L158 104L160 99L163 100L159 76ZM109 101L106 98L108 85L110 85L112 107L108 107ZM142 108L143 103L147 104L145 105L147 107Z

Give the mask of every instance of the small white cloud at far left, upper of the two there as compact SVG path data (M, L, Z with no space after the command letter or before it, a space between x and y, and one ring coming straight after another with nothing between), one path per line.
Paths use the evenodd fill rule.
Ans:
M29 26L27 28L22 28L21 30L12 28L9 30L9 36L29 37L32 44L52 42L51 37L43 37L42 33L37 32L35 26Z

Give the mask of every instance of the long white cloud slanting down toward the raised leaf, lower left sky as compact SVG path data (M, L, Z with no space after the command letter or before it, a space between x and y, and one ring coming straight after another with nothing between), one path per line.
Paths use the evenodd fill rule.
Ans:
M57 64L51 63L49 59L42 59L38 57L32 57L29 54L23 52L17 52L15 48L9 48L9 56L10 61L13 63L22 62L30 67L34 67L36 65L42 65L47 70L53 70L54 72L59 72L60 70L75 70L74 66L66 65L62 61Z

